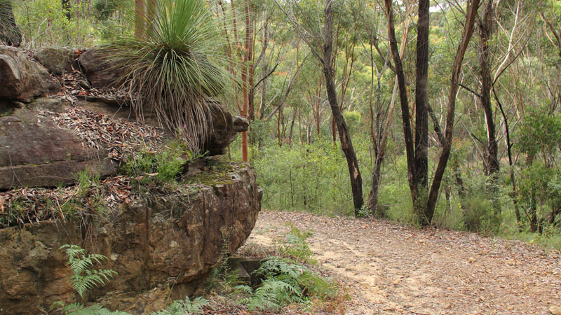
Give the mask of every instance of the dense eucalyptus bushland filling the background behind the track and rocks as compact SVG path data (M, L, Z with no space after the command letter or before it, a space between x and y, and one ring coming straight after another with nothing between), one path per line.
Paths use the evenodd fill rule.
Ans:
M126 14L150 1L11 2L26 48L146 39ZM559 1L238 0L205 8L220 38L205 43L233 83L223 102L251 123L230 155L256 167L264 207L373 214L560 246ZM180 47L189 56L189 45ZM158 99L158 86L143 98ZM202 90L195 99L214 94ZM427 218L439 164L446 168Z

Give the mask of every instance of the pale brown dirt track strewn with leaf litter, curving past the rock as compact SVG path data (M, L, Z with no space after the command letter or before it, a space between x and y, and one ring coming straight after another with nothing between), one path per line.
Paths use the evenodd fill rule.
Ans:
M560 253L520 241L262 211L245 251L274 246L288 222L313 233L320 269L351 297L345 314L526 315L561 306Z

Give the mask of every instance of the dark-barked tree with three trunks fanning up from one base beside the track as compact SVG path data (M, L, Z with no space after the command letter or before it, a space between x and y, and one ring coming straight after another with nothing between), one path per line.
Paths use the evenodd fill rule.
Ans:
M398 87L400 90L400 105L403 120L403 134L405 140L405 153L407 156L407 175L410 184L412 201L414 207L417 209L421 219L421 224L428 225L431 223L436 200L440 191L440 183L444 175L450 151L452 148L452 136L454 134L454 115L456 109L456 97L459 88L459 76L461 72L461 65L464 61L468 43L474 31L475 15L479 7L479 0L468 1L465 10L466 20L464 22L464 34L461 37L460 43L457 48L456 56L454 57L454 64L452 64L452 78L450 81L450 93L447 101L447 118L446 127L444 132L444 146L438 160L438 165L435 169L435 174L431 188L428 195L423 190L428 186L428 176L426 174L425 161L428 155L428 116L425 113L417 113L416 130L415 132L415 147L412 137L412 127L410 120L410 112L408 106L407 89L405 87L405 73L403 71L402 59L398 52L396 31L394 26L392 0L384 1L386 6L386 13L388 15L388 37L391 48L391 55L393 62L396 66L396 73L398 76ZM428 16L429 8L428 1L419 1L419 21L417 26L417 66L416 66L416 106L421 106L418 111L426 111L428 113L428 104L426 103L426 76L428 67ZM419 29L420 27L420 29ZM417 91L419 89L419 91ZM419 126L420 125L420 126ZM426 129L426 131L425 131ZM427 180L427 181L426 181ZM421 188L421 190L419 190ZM426 197L425 197L426 196Z

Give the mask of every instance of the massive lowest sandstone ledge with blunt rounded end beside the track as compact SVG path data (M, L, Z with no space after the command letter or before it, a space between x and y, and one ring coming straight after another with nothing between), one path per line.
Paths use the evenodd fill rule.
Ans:
M229 251L243 244L260 210L262 193L251 167L210 158L205 163L216 171L190 179L187 194L121 204L118 211L89 222L0 229L0 287L5 288L0 312L40 314L56 300L74 300L67 281L72 272L58 249L62 244L81 244L106 255L102 267L119 273L104 288L91 290L90 301L144 314L155 309L131 297L173 286L163 296L184 298L215 265L224 241Z

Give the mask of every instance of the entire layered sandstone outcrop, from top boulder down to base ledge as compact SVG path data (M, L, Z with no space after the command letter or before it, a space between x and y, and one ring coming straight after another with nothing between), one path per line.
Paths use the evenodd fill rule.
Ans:
M59 249L63 244L106 255L101 267L118 272L107 286L88 291L83 302L148 314L168 298L192 292L222 248L232 252L243 244L257 220L262 192L249 165L203 158L189 165L173 189L141 194L132 184L104 184L109 185L100 193L104 202L112 193L134 197L113 199L100 213L65 217L64 200L51 196L63 189L57 187L72 190L76 174L86 169L102 179L123 180L117 172L124 153L140 145L161 147L170 134L151 117L147 124L136 123L114 100L84 97L72 104L62 97L36 98L60 89L49 72L75 72L67 55L72 51L59 52L36 54L47 70L21 50L0 46L0 219L22 210L8 197L15 191L25 196L27 190L41 190L44 198L35 200L50 204L35 217L48 221L0 228L0 314L43 314L55 301L81 301L69 286L72 272ZM87 72L86 78L95 82ZM217 155L248 122L219 107L212 112L214 130L205 151Z

